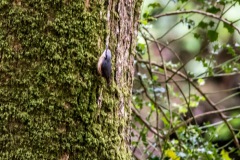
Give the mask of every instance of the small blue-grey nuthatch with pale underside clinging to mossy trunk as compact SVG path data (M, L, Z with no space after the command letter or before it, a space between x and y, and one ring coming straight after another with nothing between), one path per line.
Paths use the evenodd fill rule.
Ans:
M108 85L110 85L111 68L111 51L107 46L98 60L97 69L98 73L106 79Z

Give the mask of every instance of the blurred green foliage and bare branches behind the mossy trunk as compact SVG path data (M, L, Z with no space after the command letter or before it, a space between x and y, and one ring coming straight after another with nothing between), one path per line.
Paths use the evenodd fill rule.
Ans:
M240 157L240 1L142 6L133 88L136 159Z

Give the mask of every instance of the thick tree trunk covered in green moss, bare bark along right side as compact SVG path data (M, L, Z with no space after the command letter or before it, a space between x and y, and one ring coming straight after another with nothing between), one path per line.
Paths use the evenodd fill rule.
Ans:
M1 159L130 159L140 3L0 2ZM96 69L106 39L110 87Z

